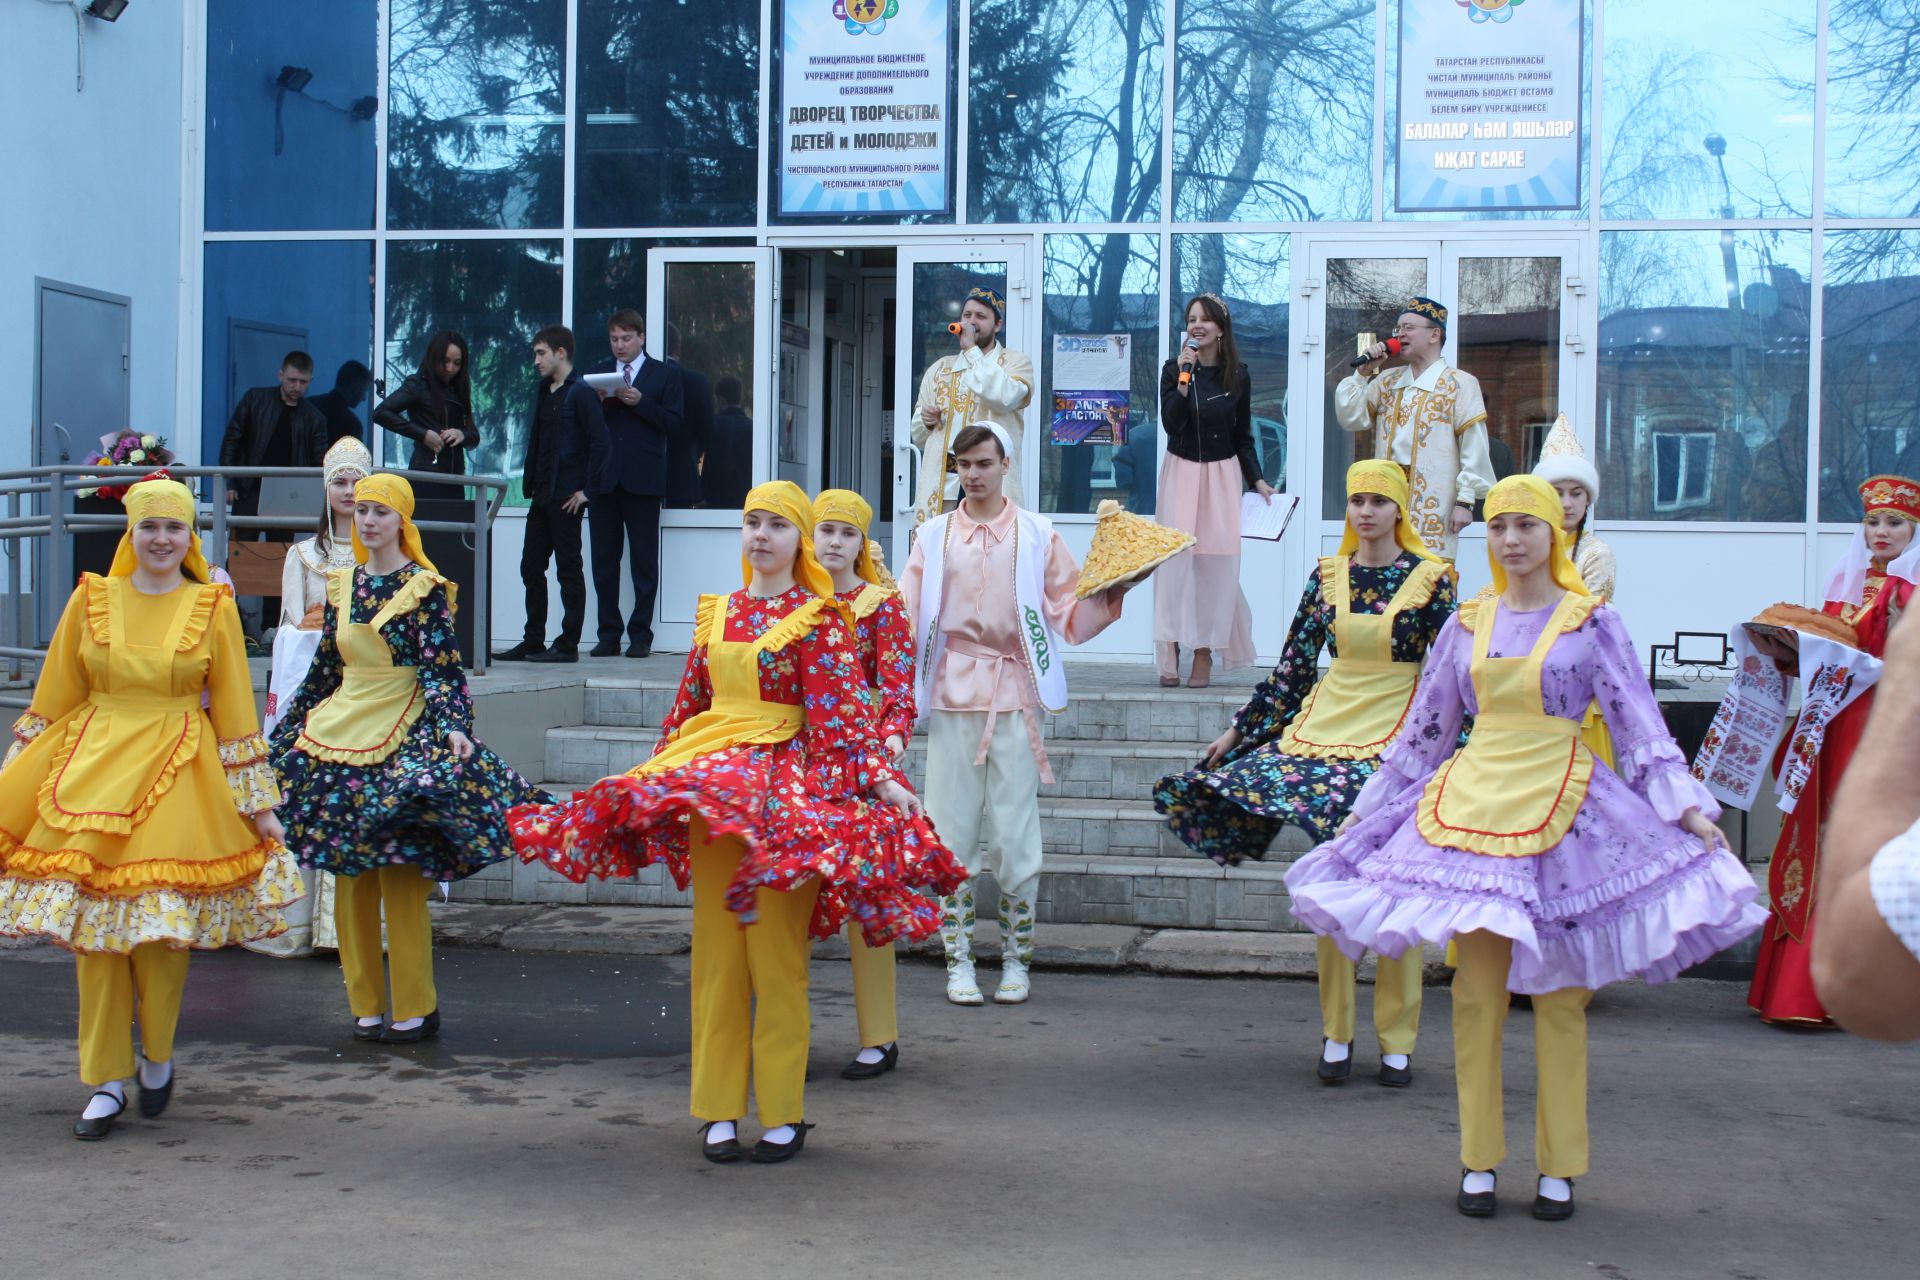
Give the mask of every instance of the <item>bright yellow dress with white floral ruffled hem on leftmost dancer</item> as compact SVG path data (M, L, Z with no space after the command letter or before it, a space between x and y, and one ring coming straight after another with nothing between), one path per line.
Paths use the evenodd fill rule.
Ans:
M278 798L232 593L88 574L0 771L0 935L113 954L273 936L300 871L242 814Z

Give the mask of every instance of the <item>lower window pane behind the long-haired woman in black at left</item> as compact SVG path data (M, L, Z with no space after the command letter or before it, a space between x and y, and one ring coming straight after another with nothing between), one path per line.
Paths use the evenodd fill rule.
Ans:
M559 315L559 240L396 240L386 246L388 391L420 368L436 330L459 332L467 338L480 432L467 470L518 476L536 380L528 344ZM378 436L374 457L403 466L411 441L394 432ZM518 486L513 501L522 501Z

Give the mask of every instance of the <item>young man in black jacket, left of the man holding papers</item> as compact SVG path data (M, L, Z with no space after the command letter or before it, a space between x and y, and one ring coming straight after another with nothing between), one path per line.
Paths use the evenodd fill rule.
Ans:
M499 654L507 662L578 662L588 614L588 580L580 564L580 520L588 491L607 470L607 418L599 395L574 372L574 332L549 324L534 334L534 418L526 434L526 585L524 639ZM561 635L547 645L547 560L559 560Z

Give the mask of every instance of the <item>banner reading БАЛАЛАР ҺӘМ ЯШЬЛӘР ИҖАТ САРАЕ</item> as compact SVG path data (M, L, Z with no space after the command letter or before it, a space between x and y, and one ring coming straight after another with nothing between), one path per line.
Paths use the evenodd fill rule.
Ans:
M1586 0L1400 0L1396 213L1578 209Z

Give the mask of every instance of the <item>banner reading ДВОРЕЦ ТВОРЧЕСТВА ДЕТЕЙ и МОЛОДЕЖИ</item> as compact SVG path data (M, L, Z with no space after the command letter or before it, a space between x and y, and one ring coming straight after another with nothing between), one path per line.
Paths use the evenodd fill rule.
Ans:
M952 0L781 0L776 213L950 213L952 84Z

